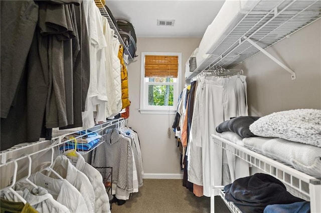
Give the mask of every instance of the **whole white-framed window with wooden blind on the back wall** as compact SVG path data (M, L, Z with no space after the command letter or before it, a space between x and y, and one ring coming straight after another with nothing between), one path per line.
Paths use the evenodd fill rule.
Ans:
M180 52L142 52L140 113L176 113L181 88Z

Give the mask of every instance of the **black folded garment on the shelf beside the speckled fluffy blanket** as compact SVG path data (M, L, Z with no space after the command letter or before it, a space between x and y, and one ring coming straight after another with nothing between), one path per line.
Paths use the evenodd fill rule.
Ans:
M216 127L216 131L222 133L223 131L233 131L241 137L253 137L253 134L249 126L260 117L257 116L239 116L231 117L230 120L226 120Z

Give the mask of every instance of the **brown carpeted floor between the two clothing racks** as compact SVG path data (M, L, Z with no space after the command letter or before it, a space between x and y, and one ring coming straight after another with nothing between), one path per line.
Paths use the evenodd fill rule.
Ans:
M144 179L137 193L123 205L112 203L112 213L209 213L210 197L197 197L182 185L181 179ZM215 197L215 212L230 212Z

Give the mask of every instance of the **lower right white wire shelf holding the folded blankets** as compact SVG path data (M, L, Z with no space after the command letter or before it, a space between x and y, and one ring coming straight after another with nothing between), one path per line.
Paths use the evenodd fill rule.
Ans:
M274 176L275 178L282 181L287 190L294 196L310 201L311 213L321 212L320 179L298 171L290 165L283 164L279 161L263 156L255 151L235 144L218 135L212 134L211 137L213 144L215 144L213 145L211 143L211 150L213 150L215 147L223 148L226 151L250 163L252 166L255 166L262 171ZM213 159L211 159L211 162L212 160ZM214 212L214 190L216 188L222 187L215 185L214 181L212 181L211 212ZM229 202L224 198L224 191L220 190L220 196L232 212L241 212L232 202Z

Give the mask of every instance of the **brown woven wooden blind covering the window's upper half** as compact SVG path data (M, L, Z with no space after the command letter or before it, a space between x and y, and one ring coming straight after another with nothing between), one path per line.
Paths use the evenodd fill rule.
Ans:
M178 67L177 55L145 55L145 77L177 77Z

